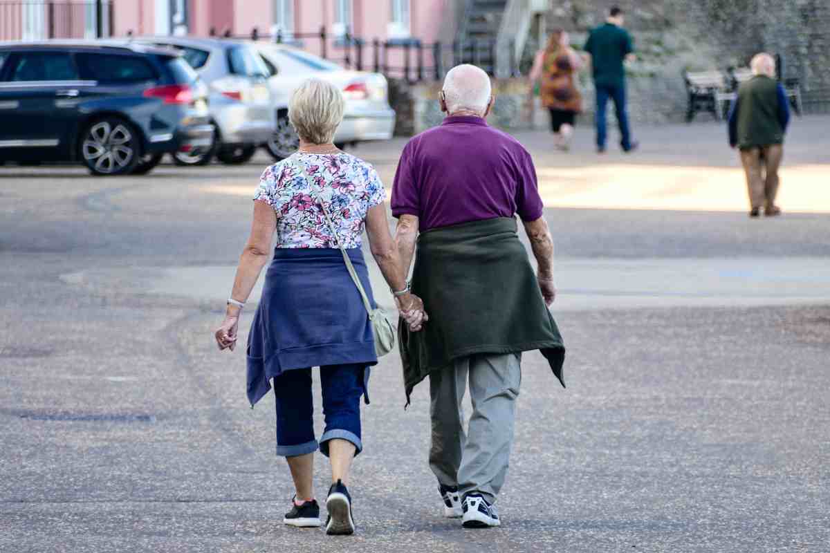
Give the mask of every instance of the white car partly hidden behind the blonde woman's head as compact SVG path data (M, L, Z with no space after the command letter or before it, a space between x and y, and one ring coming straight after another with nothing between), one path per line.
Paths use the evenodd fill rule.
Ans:
M337 144L392 138L395 112L389 106L386 78L378 73L347 70L292 46L251 42L271 72L268 85L275 101L276 131L267 148L277 161L295 153L300 138L288 122L288 99L309 77L327 80L343 90L346 109L334 133Z

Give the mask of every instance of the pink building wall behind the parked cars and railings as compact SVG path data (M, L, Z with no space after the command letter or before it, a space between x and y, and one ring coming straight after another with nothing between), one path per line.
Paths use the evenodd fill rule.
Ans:
M442 36L442 32L446 32L447 21L452 19L453 6L457 1L459 0L409 0L409 36L420 40L424 45L437 40L449 40L451 37ZM32 9L24 14L20 2L26 0L0 0L0 40L33 38L32 17L40 17L38 10L34 10L34 15ZM187 7L187 21L177 32L190 36L208 36L212 29L218 35L229 30L236 36L250 36L254 27L261 36L267 36L271 34L275 22L275 0L112 0L111 35L173 34L175 24L171 12L177 2L186 2ZM85 28L84 15L87 8L84 2L52 0L52 3L56 7L63 6L60 8L61 15L54 17L52 22L40 22L40 27L36 25L41 29L38 32L42 36L34 37L48 38L50 32L51 36L56 37L91 37L89 22L86 22ZM73 7L66 7L68 5ZM326 42L328 57L334 61L343 61L345 52L341 42L334 36L333 29L335 0L293 0L291 5L293 31L298 35L298 45L321 54L323 48L319 33L320 27L325 27L330 36ZM353 36L364 40L363 66L364 69L369 69L374 65L372 41L377 38L384 42L390 38L392 0L351 0L351 6L352 21L349 30ZM42 7L41 11L45 12ZM27 36L24 35L25 32ZM355 49L349 51L353 63L355 54ZM414 49L410 56L410 65L414 67L417 63ZM432 65L431 50L427 48L423 56L425 65ZM381 56L381 64L398 68L398 71L392 71L393 75L399 73L404 65L403 49L390 48L388 53Z

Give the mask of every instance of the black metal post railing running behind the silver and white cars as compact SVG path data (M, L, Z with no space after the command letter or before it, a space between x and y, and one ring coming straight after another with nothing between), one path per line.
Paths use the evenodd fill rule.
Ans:
M430 42L417 38L370 41L354 36L347 30L343 34L330 33L325 27L319 32L284 34L263 34L254 27L248 35L233 35L229 30L210 30L211 36L245 38L252 41L273 41L294 44L321 57L338 62L349 69L373 70L390 78L407 80L410 83L424 80L441 80L454 65L471 63L496 75L497 67L505 67L507 73L499 76L518 76L519 67L511 52L513 41L500 43L495 39L469 41ZM314 48L313 46L316 46ZM501 56L509 60L500 64Z

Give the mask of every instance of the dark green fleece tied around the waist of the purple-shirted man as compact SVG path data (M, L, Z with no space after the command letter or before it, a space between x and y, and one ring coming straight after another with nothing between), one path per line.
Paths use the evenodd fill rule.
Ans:
M398 323L407 405L431 371L476 353L540 350L564 387L565 348L544 305L515 219L498 218L423 232L413 293L429 321L419 332Z

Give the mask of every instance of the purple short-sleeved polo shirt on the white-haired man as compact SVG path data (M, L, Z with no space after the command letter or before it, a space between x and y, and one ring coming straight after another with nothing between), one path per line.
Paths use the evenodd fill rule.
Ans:
M530 153L481 117L453 116L403 148L392 214L418 217L420 230L519 214L542 216Z

